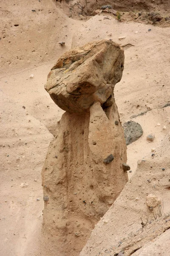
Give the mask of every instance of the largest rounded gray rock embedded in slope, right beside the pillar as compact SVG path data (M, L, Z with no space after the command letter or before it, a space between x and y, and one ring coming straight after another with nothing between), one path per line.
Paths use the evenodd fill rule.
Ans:
M143 130L139 123L134 121L128 121L123 124L124 135L126 140L126 145L129 145L133 141L138 140L142 134Z

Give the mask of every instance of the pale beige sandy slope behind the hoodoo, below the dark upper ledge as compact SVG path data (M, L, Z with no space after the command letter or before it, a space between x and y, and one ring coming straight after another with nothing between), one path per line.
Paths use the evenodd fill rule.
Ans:
M102 15L87 22L72 20L47 0L17 4L13 0L10 7L1 0L0 7L0 243L3 256L37 255L34 251L43 209L40 173L52 138L48 129L54 132L62 115L43 87L50 67L71 45L100 38L134 45L125 49L124 74L115 87L122 122L151 110L132 119L144 130L143 136L127 147L128 164L134 172L137 160L156 148L170 129L169 110L161 109L170 100L170 28L119 23ZM120 36L126 38L119 41ZM58 41L65 41L65 47ZM162 130L164 125L166 130ZM151 132L155 140L147 143L146 136ZM28 187L21 188L21 183L28 183Z

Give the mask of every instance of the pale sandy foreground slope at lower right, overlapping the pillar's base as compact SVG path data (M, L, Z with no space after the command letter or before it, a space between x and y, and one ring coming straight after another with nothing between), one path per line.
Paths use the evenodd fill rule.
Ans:
M159 247L159 241L167 242L170 236L169 151L170 134L154 159L149 154L138 161L135 174L92 231L81 256L169 256L167 246Z

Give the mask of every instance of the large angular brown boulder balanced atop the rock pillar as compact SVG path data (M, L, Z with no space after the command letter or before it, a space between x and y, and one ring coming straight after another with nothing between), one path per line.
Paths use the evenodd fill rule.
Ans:
M63 110L85 113L93 102L107 101L123 68L124 52L118 44L109 40L89 43L59 58L48 74L45 90Z

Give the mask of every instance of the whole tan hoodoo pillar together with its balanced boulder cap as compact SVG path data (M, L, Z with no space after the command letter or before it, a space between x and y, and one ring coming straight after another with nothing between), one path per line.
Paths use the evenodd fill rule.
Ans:
M45 89L66 111L42 169L43 232L54 255L78 255L127 183L113 94L123 68L122 47L102 40L66 52L48 75Z

